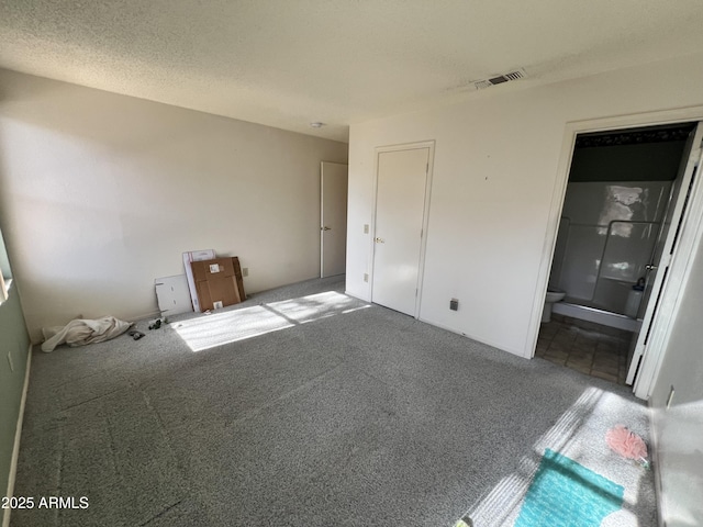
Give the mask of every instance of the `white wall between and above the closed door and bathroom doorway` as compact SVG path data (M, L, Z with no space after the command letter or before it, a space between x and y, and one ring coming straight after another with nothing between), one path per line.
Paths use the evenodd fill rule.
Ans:
M373 231L365 235L362 226L373 216L375 147L435 139L421 318L529 357L531 317L542 309L535 298L550 265L543 255L558 220L558 211L550 215L553 193L566 180L558 165L567 123L703 104L703 55L493 90L352 126L347 291L371 298L372 279L364 282L364 273L372 271ZM458 312L449 311L451 298L460 301Z

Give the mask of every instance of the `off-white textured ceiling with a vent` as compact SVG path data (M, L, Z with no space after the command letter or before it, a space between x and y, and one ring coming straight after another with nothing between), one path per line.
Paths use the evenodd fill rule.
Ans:
M489 90L700 53L702 22L700 0L0 0L0 67L346 141L520 67Z

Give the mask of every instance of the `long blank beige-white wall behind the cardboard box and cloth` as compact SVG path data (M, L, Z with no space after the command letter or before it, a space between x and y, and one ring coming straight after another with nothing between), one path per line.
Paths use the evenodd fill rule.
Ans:
M7 70L0 90L0 225L34 338L156 312L185 250L239 256L249 292L319 276L320 161L347 145Z

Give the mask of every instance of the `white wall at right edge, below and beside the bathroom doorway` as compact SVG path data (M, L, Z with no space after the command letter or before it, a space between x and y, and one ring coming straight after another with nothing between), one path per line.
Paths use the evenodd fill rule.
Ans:
M703 246L699 246L663 363L649 400L654 410L668 527L703 525ZM666 410L670 388L674 395Z

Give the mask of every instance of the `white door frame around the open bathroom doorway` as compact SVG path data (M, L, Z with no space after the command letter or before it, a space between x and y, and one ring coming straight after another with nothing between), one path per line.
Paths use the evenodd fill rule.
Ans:
M690 106L677 110L663 110L657 112L638 113L631 115L617 115L611 117L570 121L566 123L559 164L554 182L551 203L547 228L545 232L542 262L537 274L535 295L533 300L529 330L527 334L525 357L534 357L539 335L539 323L545 303L545 295L549 281L549 270L554 259L554 250L557 242L557 231L559 228L559 217L563 209L567 183L569 182L569 171L576 146L578 134L592 132L606 132L637 126L656 126L660 124L687 123L692 121L703 121L703 106ZM696 146L693 146L693 150ZM701 170L701 169L700 169ZM658 316L652 321L648 349L643 356L639 374L633 386L633 392L639 399L648 399L654 383L663 361L663 351L673 328L681 293L685 287L687 279L691 272L695 250L701 243L703 234L703 173L699 173L691 193L691 202L683 218L680 239L677 250L669 265L669 277L663 284L660 296L660 309ZM670 310L670 311L669 311Z

